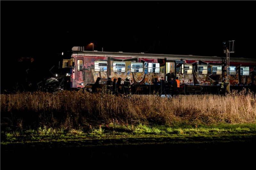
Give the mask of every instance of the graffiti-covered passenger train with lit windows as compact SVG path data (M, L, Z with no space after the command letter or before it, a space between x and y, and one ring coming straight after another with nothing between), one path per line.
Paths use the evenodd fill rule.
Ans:
M77 50L78 49L78 50ZM109 75L131 77L132 93L152 94L155 78L167 80L172 70L180 80L179 92L218 94L220 82L227 80L227 60L217 56L170 55L148 53L71 51L62 60L60 67L66 75L67 89L86 89L101 78L101 86ZM251 89L256 87L256 60L230 58L230 89ZM63 72L64 71L64 72ZM168 90L168 87L166 87Z

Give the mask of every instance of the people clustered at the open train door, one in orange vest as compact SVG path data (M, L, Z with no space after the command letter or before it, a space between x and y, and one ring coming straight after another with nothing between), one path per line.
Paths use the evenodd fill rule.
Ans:
M157 78L155 78L155 81L153 82L155 85L155 92L160 95L165 95L166 96L166 83L164 81L164 77L161 77L161 80L158 81ZM172 96L177 95L177 89L178 87L180 87L180 80L178 80L178 77L176 77L176 79L174 79L174 74L172 73L172 71L170 71L170 73L167 74L167 85L169 88L169 92L171 92Z

